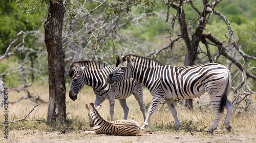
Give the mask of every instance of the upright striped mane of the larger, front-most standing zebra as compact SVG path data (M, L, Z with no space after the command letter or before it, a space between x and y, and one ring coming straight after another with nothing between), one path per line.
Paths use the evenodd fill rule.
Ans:
M126 56L129 56L130 59L135 62L135 63L138 63L140 65L147 65L147 66L162 66L162 64L157 61L157 60L154 60L154 59L151 59L151 58L145 58L145 57L142 57L142 56L138 56L138 55L134 55L134 54L127 54L125 56L122 56L122 61L126 61L125 58Z

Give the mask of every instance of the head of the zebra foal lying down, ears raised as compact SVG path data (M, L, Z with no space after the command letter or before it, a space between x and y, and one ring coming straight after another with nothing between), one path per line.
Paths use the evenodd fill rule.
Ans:
M97 110L99 110L99 108L101 107L101 104L98 105L97 107L94 107L94 104L93 103L90 103L90 106L88 106L86 104L86 108L88 109L89 113L88 113L88 116L89 116L89 120L90 120L90 127L93 127L94 126L94 123L93 123L93 118L97 118L99 113Z

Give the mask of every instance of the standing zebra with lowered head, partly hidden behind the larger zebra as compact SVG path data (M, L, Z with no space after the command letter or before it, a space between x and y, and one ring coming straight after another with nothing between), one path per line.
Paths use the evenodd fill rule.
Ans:
M106 78L114 70L115 67L106 66L102 61L77 61L72 63L69 68L69 97L75 101L83 85L89 85L96 95L95 106L101 104L105 99L109 100L111 121L114 121L115 99L119 100L123 108L124 119L127 119L129 108L126 105L126 98L133 94L139 103L145 121L142 84L132 78L108 84Z

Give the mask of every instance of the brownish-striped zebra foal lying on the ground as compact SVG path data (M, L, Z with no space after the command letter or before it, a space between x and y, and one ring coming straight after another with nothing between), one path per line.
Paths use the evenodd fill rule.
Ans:
M134 120L117 120L117 121L106 121L103 119L99 112L98 105L96 108L93 103L90 103L90 107L86 104L89 111L88 116L90 120L90 126L94 127L94 131L86 131L88 133L97 134L111 134L111 135L122 135L122 136L135 136L139 131L139 124Z

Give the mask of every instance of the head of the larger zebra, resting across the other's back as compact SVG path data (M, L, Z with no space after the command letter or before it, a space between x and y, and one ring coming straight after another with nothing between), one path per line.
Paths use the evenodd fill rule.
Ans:
M126 56L123 63L118 65L116 70L114 70L112 73L109 74L107 79L108 83L112 84L116 81L122 81L124 79L130 78L132 62L133 61L130 59L130 56Z

